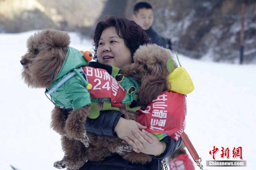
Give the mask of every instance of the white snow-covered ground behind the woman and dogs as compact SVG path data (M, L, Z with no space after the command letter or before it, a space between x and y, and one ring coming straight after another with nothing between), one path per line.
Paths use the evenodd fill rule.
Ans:
M10 165L19 170L56 170L53 162L63 156L60 136L50 128L53 105L44 89L29 89L20 76L20 57L26 53L26 40L34 32L0 34L0 165L4 170L11 170ZM92 48L90 40L81 43L76 33L69 35L72 47L84 51ZM202 157L204 168L255 169L256 65L219 64L182 55L179 58L195 86L187 97L185 132ZM213 160L209 154L213 146L219 148L216 160L240 160L232 158L232 150L241 146L247 167L206 167L206 160ZM230 149L229 159L220 157L221 147Z

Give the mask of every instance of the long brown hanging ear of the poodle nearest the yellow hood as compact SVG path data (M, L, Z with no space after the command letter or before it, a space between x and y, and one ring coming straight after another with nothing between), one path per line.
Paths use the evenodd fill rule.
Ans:
M139 102L142 106L148 105L154 98L160 95L160 93L167 90L166 78L148 76L143 78L141 87L138 89L140 96Z

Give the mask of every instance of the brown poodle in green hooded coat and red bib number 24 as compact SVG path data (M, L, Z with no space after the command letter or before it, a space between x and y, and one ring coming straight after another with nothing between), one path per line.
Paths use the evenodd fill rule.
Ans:
M62 68L69 43L68 34L57 30L43 30L31 36L27 41L28 52L20 61L25 83L32 88L49 88ZM53 109L51 127L62 135L65 152L63 160L54 163L56 168L79 169L87 160L100 161L111 153L123 155L132 151L132 147L122 144L118 137L87 136L84 124L90 107L89 104L76 110ZM98 108L102 109L102 103ZM132 111L121 111L126 118L134 119Z

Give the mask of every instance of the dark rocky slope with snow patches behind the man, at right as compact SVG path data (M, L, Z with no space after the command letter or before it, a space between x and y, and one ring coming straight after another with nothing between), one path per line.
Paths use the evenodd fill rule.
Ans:
M130 17L129 1L126 16ZM171 38L173 50L193 58L239 62L241 0L147 1L154 28ZM246 1L244 62L256 63L256 1Z

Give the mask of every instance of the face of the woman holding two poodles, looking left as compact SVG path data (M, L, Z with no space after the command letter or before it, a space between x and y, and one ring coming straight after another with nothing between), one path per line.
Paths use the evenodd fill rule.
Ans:
M117 35L115 27L108 27L102 31L97 56L99 63L114 65L121 69L132 64L131 52L125 46L124 39Z

